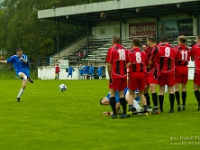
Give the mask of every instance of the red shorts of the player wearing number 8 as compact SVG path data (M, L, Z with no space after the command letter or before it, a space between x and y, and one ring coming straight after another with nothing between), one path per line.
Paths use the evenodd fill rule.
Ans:
M130 90L144 90L145 89L145 75L144 72L132 72L129 74L128 88Z

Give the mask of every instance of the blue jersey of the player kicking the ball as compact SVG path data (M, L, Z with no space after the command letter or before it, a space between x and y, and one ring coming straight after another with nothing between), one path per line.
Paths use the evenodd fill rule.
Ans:
M8 58L7 62L13 64L17 76L19 76L20 72L23 72L26 76L29 77L30 71L28 57L23 54L22 58L26 60L27 63L24 63L22 60L20 60L20 57L18 55L13 55L12 57Z

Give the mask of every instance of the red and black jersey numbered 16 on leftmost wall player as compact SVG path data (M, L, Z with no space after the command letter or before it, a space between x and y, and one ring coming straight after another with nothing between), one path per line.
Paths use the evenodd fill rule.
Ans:
M120 44L115 44L108 50L106 63L112 64L112 70L111 70L112 78L127 77L127 69L126 69L127 56L128 56L128 51Z

